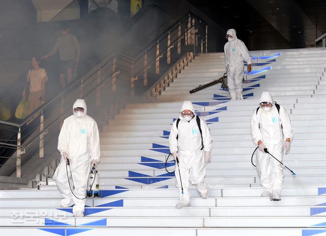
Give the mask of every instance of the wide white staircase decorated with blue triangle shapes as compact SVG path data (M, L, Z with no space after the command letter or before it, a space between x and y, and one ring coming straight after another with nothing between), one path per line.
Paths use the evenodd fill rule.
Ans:
M220 84L224 54L200 54L155 103L127 104L103 127L101 198L89 198L84 218L60 208L56 186L0 191L0 235L326 235L326 50L251 52L243 101L229 101ZM251 155L250 119L262 91L270 91L292 122L282 201L260 197ZM174 208L178 192L165 171L168 135L184 100L209 124L212 162L208 199L190 189L191 207ZM234 148L235 147L235 148ZM172 158L171 158L172 159ZM254 158L255 160L255 158ZM168 162L174 168L174 162Z

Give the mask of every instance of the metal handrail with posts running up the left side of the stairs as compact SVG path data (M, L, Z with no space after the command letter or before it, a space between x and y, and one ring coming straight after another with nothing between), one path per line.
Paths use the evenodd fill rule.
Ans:
M192 16L194 18L199 19L199 17L196 16L195 14L193 14L191 12L188 12L184 16L180 17L177 21L175 21L172 26L170 26L165 32L161 33L155 40L153 40L152 42L148 43L146 45L146 49L145 50L141 50L140 53L138 53L137 56L135 56L135 57L130 57L130 56L128 56L128 55L126 55L124 53L118 52L118 51L112 52L110 54L110 56L106 57L102 62L100 62L98 65L96 65L91 70L89 70L88 73L86 73L83 76L80 76L79 79L77 79L72 84L70 84L67 88L65 88L64 91L62 91L58 96L56 96L55 98L53 98L52 100L50 100L46 104L43 104L42 106L40 106L39 108L37 108L35 111L33 111L31 114L29 114L28 117L26 117L26 119L23 121L22 124L16 124L16 123L12 123L12 122L0 121L0 124L7 125L7 126L13 126L13 127L18 128L18 131L16 131L17 134L18 134L18 136L19 136L17 138L18 140L16 140L17 141L17 145L7 144L7 143L0 143L0 145L7 146L8 148L14 147L14 148L17 149L17 159L19 159L19 160L17 160L17 173L19 172L19 177L20 177L20 166L21 166L20 163L18 165L18 161L20 162L20 155L21 155L20 154L20 152L21 152L20 149L22 149L23 151L25 149L27 149L27 148L29 148L29 150L32 150L33 147L35 146L35 142L34 141L36 139L38 139L38 138L40 138L40 142L41 142L41 139L43 141L43 135L46 134L46 132L49 129L51 129L54 125L56 125L56 123L58 122L58 120L59 119L62 119L66 115L66 113L67 113L67 110L64 109L64 112L58 118L56 117L56 119L54 121L49 121L50 124L47 124L46 127L43 127L43 119L44 119L43 118L43 111L44 111L44 109L46 109L48 107L51 107L53 105L53 103L55 103L56 101L58 101L58 99L60 99L61 97L64 97L64 95L68 91L77 91L76 89L78 89L78 86L80 86L82 84L85 84L85 83L89 83L89 85L91 85L92 82L94 82L98 78L100 78L98 76L97 77L96 76L93 77L96 73L98 73L98 72L100 72L100 73L107 73L108 71L110 71L112 68L115 68L115 67L118 67L118 68L114 69L110 73L110 75L108 75L104 80L98 81L98 83L96 83L96 85L94 87L92 87L92 86L90 87L90 86L86 85L87 87L85 87L85 89L87 91L85 91L86 93L83 93L83 97L88 96L94 90L98 89L103 83L105 83L108 80L110 80L110 78L114 74L119 73L119 72L123 72L123 73L126 73L128 75L131 75L131 86L132 86L131 89L133 90L134 89L134 87L133 87L134 86L133 77L140 76L144 72L145 69L147 69L152 63L157 62L157 59L160 58L162 54L167 53L168 50L171 49L171 48L173 48L173 45L176 42L178 42L178 41L180 42L180 39L183 38L185 35L186 35L185 45L187 45L188 37L189 38L190 37L193 37L193 36L187 36L187 35L188 34L189 35L192 35L192 34L196 35L197 34L197 33L189 32L189 30L195 29L196 32L201 32L201 36L206 37L206 41L207 41L208 33L207 33L207 23L205 21L199 19L199 25L198 25L198 21L191 20L191 21L188 21L189 23L187 23L187 25L183 25L183 21L186 20L186 19L188 19L188 18L185 18L185 17L192 17ZM197 23L193 23L193 22L197 22ZM181 25L181 23L182 23L182 25ZM206 30L203 30L201 23L205 23L206 24ZM180 27L180 25L181 25L181 28L182 28L182 32L178 36L177 33L174 33L173 31L176 30L178 27ZM172 35L173 36L173 39L174 40L172 42L169 41L170 40L170 37L168 35ZM168 45L167 46L160 47L160 49L163 49L163 50L158 50L156 52L155 51L152 51L153 46L159 45L158 43L160 43L160 42L164 42L164 40L166 40L167 37L168 37ZM196 38L192 38L191 40L194 40L194 41L191 41L191 43L189 43L189 45L190 44L194 44L194 52L195 52ZM206 41L205 41L205 43L206 43L206 51L207 51L207 42ZM197 41L197 43L198 43L198 41ZM203 43L203 40L201 41L201 43ZM179 49L179 46L178 46L178 49ZM146 65L144 64L142 67L140 67L141 64L139 64L139 62L142 62L141 60L143 60L143 58L141 58L141 56L143 56L146 53L147 53L147 55L150 55L149 56L150 57L150 60L149 60L148 63L146 63ZM108 65L113 60L114 60L113 65L115 65L115 66ZM119 61L120 63L118 63L117 61ZM104 67L106 65L108 65L107 68L105 67L104 70L103 69L102 70L99 70L100 68L102 68L102 67ZM131 66L130 68L129 68L129 65ZM135 78L135 80L137 80L137 78ZM87 88L90 89L90 90L88 90ZM71 95L71 93L70 93L70 95ZM132 93L132 95L133 95L133 93ZM74 97L74 95L71 95L69 97L71 99L72 97ZM22 132L22 130L21 130L22 126L25 125L25 124L28 124L31 121L33 121L35 119L35 116L38 116L39 114L41 114L41 126L42 126L41 130L38 131L38 132L36 132L37 134L35 136L29 138L29 140L27 140L24 143L24 145L22 146L20 144L20 141L21 141L20 135L21 135L21 132ZM48 112L46 114L49 115ZM38 127L41 127L41 126L38 126ZM38 129L38 128L37 127L35 129L33 128L33 130L31 132L35 133L36 129ZM11 140L8 140L8 141L11 141ZM29 146L32 143L34 143L34 144L30 148ZM42 150L43 150L43 145L42 145ZM41 146L40 146L40 148L37 151L40 151L40 153L41 153ZM42 151L42 153L43 153L43 151ZM18 155L19 155L19 157L18 157ZM41 156L41 154L40 154L40 157L43 157L43 156ZM18 167L19 167L19 170L18 170ZM17 177L18 177L18 174L17 174Z

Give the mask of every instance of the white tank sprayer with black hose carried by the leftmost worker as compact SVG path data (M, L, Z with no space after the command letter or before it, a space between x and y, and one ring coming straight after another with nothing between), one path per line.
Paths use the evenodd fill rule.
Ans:
M70 181L69 181L68 166L69 166L70 176L71 176L71 180L72 180L72 188L71 188ZM69 188L70 188L70 191L71 191L72 195L75 198L83 200L83 199L85 199L87 197L99 197L99 193L100 193L100 190L99 190L100 177L99 177L99 175L97 173L97 170L95 169L95 164L92 167L92 169L90 171L90 174L88 176L87 186L89 186L90 188L89 188L89 190L86 191L87 195L86 195L85 198L78 198L73 193L73 190L75 189L75 185L73 183L73 178L72 178L72 173L71 173L71 169L70 169L70 160L69 159L67 159L67 162L66 162L66 171L67 171L67 178L68 178Z

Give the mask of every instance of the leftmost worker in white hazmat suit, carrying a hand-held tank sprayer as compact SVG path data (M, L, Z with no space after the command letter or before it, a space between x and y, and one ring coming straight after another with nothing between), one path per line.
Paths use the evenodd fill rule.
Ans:
M61 154L60 164L53 176L57 181L58 190L64 198L61 207L73 206L73 215L84 216L87 181L90 166L96 165L100 160L100 142L96 121L87 115L86 103L77 99L73 104L73 115L65 119L58 140L58 150ZM69 159L70 169L74 183L71 193L66 162ZM70 171L68 167L68 175ZM71 184L71 188L73 188Z

